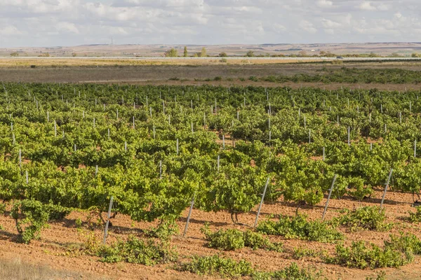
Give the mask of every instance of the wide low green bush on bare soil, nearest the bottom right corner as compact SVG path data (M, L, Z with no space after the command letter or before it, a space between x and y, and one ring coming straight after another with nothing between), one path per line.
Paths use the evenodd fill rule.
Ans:
M346 267L356 267L371 269L382 267L400 267L412 261L407 253L401 253L387 246L384 249L371 244L367 247L363 241L352 242L351 247L345 247L343 244L336 246L336 255L326 257L326 262Z

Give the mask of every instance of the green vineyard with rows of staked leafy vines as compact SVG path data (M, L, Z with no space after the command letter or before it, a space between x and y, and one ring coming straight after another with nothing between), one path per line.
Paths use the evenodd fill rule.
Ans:
M182 262L166 244L171 235L182 236L178 224L182 221L184 227L189 207L193 216L194 211L229 214L234 228L201 229L215 254L249 247L276 255L285 251L277 242L282 237L284 245L288 239L337 244L330 255L295 248L296 259L312 256L358 269L407 265L421 254L419 232L412 230L421 221L421 208L404 214L401 235L383 246L362 241L344 245L342 231L391 230L393 225L386 223L389 205L380 208L373 196L382 193L388 179L387 202L392 203L391 192L408 194L406 204L421 205L419 94L4 83L0 211L13 219L15 241L27 244L42 239L48 223L72 211L96 211L101 229L122 215L133 223L154 223L156 228L144 230L140 239L126 236L110 245L91 240L81 250L104 262L175 263L175 270L194 274L321 277L295 262L276 272L258 271L250 262L219 254ZM320 220L323 209L316 219L302 214L321 202L324 207L332 186L334 202L370 201L373 206L345 209L339 216L328 208L326 221ZM111 198L108 219L104 213ZM261 200L264 205L286 203L295 215L262 213L253 227L244 217L256 216ZM406 227L411 230L402 230Z

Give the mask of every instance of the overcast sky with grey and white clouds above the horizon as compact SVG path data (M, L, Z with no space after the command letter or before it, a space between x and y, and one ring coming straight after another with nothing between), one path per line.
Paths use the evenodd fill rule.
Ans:
M420 0L0 0L0 48L421 41Z

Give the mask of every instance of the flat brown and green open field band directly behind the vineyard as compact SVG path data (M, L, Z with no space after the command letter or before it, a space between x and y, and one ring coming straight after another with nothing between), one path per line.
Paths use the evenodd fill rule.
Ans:
M201 62L201 60L192 60ZM15 64L8 64L8 63ZM68 62L56 62L55 59L36 59L18 64L20 59L0 59L0 80L29 83L128 83L137 85L253 85L264 87L307 87L315 86L326 89L340 87L377 88L381 90L420 89L421 80L417 71L421 62L344 62L328 63L287 63L287 64L149 64L131 65L133 60L100 60L95 65L91 59L69 59ZM76 63L72 66L67 63ZM2 64L3 63L3 64ZM35 68L30 65L34 63ZM63 64L62 64L63 63ZM86 63L86 65L83 65ZM107 65L109 63L110 65ZM347 69L354 73L344 72ZM325 76L320 79L302 78L300 75ZM330 76L341 75L329 81ZM293 78L297 76L298 78ZM354 76L351 83L349 79ZM377 76L377 78L373 78ZM399 80L395 77L400 76ZM408 78L412 76L412 78ZM250 80L250 77L254 77ZM279 78L283 77L283 78ZM391 79L388 80L387 78ZM322 79L323 78L323 79ZM393 79L392 79L393 78ZM380 83L381 80L381 83Z

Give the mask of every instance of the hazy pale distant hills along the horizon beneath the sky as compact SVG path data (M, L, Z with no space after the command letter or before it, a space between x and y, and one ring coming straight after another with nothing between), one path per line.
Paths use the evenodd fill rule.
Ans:
M163 57L166 50L175 48L178 55L182 55L185 45L76 45L57 46L53 48L0 48L0 56L8 57L11 52L18 52L20 56L37 56L48 52L53 56L72 57ZM417 42L399 43L312 43L312 44L261 44L261 45L187 45L189 56L196 52L201 52L206 48L208 55L216 56L220 52L226 52L229 56L244 56L249 50L255 55L296 55L300 51L305 51L308 55L319 55L319 52L332 52L337 55L345 54L369 54L371 52L387 56L398 54L410 56L412 53L420 52L421 44Z

